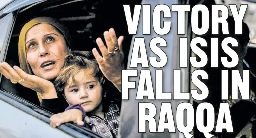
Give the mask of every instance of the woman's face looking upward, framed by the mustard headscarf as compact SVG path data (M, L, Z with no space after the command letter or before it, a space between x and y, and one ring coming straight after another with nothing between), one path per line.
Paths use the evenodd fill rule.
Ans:
M33 73L46 80L58 76L67 55L64 36L50 24L30 28L25 36L27 61Z

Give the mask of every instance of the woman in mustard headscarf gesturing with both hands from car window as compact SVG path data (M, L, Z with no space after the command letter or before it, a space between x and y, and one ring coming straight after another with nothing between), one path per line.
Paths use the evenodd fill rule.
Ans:
M101 57L93 49L102 73L121 92L121 71L124 69L122 41L116 38L114 29L104 32L108 48L100 38L96 43ZM53 81L64 65L65 56L71 51L68 30L56 19L37 17L24 25L19 36L20 67L13 68L6 62L0 63L0 73L12 83L20 83L37 92L41 106L58 113L64 111L63 99L58 99ZM24 71L23 71L24 70ZM115 72L115 73L113 73Z

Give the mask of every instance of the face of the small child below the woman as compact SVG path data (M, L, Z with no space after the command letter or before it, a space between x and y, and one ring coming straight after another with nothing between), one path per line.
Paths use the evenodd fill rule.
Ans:
M93 69L83 69L70 77L65 86L65 97L69 104L80 104L85 112L91 112L101 104L102 86L94 77Z

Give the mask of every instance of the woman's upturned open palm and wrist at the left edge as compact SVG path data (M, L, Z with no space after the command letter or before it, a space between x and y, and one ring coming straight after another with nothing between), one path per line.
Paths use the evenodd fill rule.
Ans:
M14 66L12 68L6 62L0 63L0 73L2 73L7 79L39 92L42 99L58 98L52 82L35 75L27 74L18 66Z

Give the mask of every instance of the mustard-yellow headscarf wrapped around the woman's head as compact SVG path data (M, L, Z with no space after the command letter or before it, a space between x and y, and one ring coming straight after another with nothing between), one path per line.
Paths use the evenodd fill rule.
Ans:
M19 52L19 62L20 62L20 68L24 70L28 74L33 74L30 65L27 61L27 53L26 53L26 47L25 47L25 36L27 31L32 28L33 26L41 23L48 23L60 31L62 35L64 36L66 40L66 45L68 48L70 48L70 41L71 37L66 27L62 23L60 23L58 20L50 17L37 17L32 20L30 20L28 23L26 23L23 28L21 29L20 36L19 36L19 46L18 46L18 52ZM41 96L37 92L37 96L39 98L39 101L41 102Z

